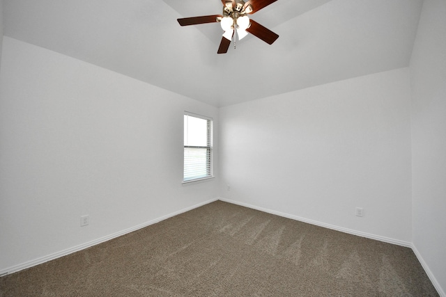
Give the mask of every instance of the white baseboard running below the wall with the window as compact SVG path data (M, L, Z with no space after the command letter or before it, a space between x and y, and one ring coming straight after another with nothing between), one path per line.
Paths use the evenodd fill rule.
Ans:
M177 216L178 214L183 214L186 211L190 211L192 209L196 209L197 207L201 207L203 205L209 204L211 202L215 202L217 200L218 200L218 198L211 199L211 200L208 200L208 201L205 201L205 202L201 202L199 204L192 205L191 207L186 207L185 209L180 209L179 211L175 211L175 212L173 212L171 214L168 214L166 216L161 216L160 218L155 218L154 220L149 220L146 223L142 223L140 225L137 225L137 226L134 226L134 227L130 227L130 228L122 230L120 232L116 232L114 234L110 234L110 235L101 237L100 239L95 239L93 241L89 241L87 243L80 244L79 246L74 246L74 247L68 248L66 250L61 250L60 252L54 252L53 254L47 255L45 257L40 257L38 259L33 259L31 261L24 262L22 264L18 264L18 265L11 266L11 267L6 268L6 269L2 269L2 270L0 270L0 277L3 276L3 275L8 275L10 273L15 273L17 271L21 271L21 270L26 269L26 268L30 268L32 266L36 266L38 264L43 264L45 262L48 262L48 261L51 261L51 260L54 260L54 259L66 256L66 255L70 255L73 252L78 252L79 250L84 250L85 248L90 248L91 246L95 246L95 245L97 245L99 243L103 243L105 241L109 241L110 239L114 239L114 238L122 236L124 234L128 234L130 232L134 232L136 230L139 230L139 229L142 229L144 227L153 225L155 223L159 223L160 221L166 220L167 218L171 218L172 216Z

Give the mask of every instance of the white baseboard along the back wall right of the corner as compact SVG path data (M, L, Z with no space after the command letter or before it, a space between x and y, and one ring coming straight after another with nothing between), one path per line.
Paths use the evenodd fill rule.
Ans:
M327 223L318 222L317 220L309 220L308 218L301 218L300 216L293 216L291 214L285 214L285 213L280 212L280 211L274 211L274 210L271 210L271 209L265 209L263 207L256 207L255 205L252 205L252 204L247 204L247 203L244 203L244 202L238 202L238 201L234 201L234 200L229 200L229 199L226 199L226 198L220 198L219 200L224 201L224 202L229 202L229 203L232 203L232 204L237 204L237 205L240 205L240 206L243 206L243 207L248 207L250 209L256 209L256 210L259 210L259 211L267 212L268 214L275 214L277 216L283 216L284 218L291 218L292 220L299 220L300 222L303 222L303 223L309 223L309 224L312 224L312 225L325 227L325 228L328 228L328 229L332 229L332 230L336 230L336 231L340 231L340 232L344 232L344 233L348 233L348 234L362 236L362 237L366 237L366 238L369 238L369 239L375 239L375 240L383 241L383 242L386 242L386 243L397 244L398 246L406 246L407 248L411 248L412 247L412 243L407 242L407 241L401 241L401 240L398 240L398 239L391 239L391 238L388 238L388 237L385 237L385 236L379 236L379 235L370 234L370 233L367 233L367 232L351 230L351 229L344 228L344 227L339 227L339 226L336 226L336 225L330 225L330 224L327 224Z

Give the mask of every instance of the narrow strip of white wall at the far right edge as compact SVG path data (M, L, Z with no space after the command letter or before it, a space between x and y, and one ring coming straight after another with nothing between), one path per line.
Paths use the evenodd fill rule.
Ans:
M425 0L410 61L413 244L446 296L446 1ZM440 289L439 287L443 288Z

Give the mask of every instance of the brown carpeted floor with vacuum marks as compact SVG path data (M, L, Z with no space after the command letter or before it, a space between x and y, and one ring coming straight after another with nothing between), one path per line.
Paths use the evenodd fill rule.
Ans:
M410 248L213 202L0 278L0 296L438 296Z

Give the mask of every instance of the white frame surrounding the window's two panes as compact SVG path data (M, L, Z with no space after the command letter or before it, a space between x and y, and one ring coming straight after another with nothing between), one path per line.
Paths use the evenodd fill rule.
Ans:
M193 117L193 118L199 118L202 120L206 120L208 121L208 131L206 134L206 138L209 141L208 145L206 145L205 147L202 146L194 146L194 145L185 145L184 143L184 138L185 138L185 126L184 126L184 118L185 115ZM214 125L213 125L213 118L210 118L206 115L199 115L197 113L191 113L189 111L184 111L183 112L183 186L187 186L190 184L197 184L199 182L207 182L210 179L214 178L214 160L213 160L213 129L214 129ZM206 163L209 163L209 175L206 175L206 177L197 177L194 179L187 179L185 180L185 150L187 148L206 148L206 150L208 150L207 154L209 154L209 156L206 158Z

